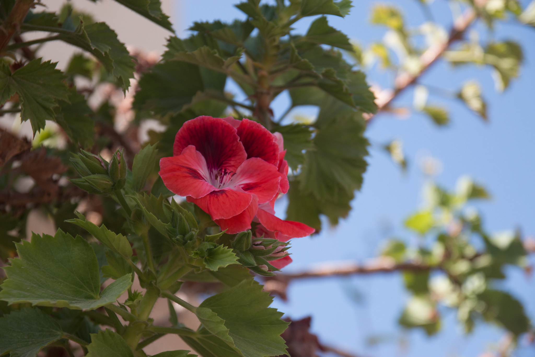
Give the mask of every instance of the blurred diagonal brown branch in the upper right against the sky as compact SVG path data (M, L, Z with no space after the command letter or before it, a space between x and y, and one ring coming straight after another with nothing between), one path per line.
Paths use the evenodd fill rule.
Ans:
M478 2L480 7L484 6L487 0L482 0ZM448 40L442 43L435 43L431 45L425 52L420 56L419 60L422 64L422 69L417 74L410 74L408 72L400 73L394 80L394 90L392 93L388 94L384 98L381 98L377 101L377 106L379 107L378 111L386 110L392 101L401 93L404 89L416 82L416 80L421 77L433 63L444 54L444 52L457 40L462 39L464 33L470 27L470 25L477 19L477 12L470 8L465 11L460 17L458 17L452 29L450 30ZM368 123L375 117L375 115L368 117Z

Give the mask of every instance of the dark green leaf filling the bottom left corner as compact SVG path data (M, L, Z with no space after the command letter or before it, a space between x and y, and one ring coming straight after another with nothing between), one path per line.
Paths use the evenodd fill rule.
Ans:
M39 350L62 338L62 328L37 308L23 308L0 318L0 355L35 357Z

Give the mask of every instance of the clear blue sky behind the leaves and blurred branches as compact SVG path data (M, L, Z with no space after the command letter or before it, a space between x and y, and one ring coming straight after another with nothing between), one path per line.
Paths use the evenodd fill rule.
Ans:
M185 29L199 20L243 18L231 6L234 1L182 0L175 2L175 26L181 36ZM384 28L369 24L372 2L360 0L344 19L330 17L330 25L347 33L362 45L380 40ZM392 2L390 2L392 3ZM521 1L525 7L528 1ZM424 20L416 0L398 0L409 26ZM431 5L435 19L449 28L450 9L443 0ZM298 22L296 29L305 32L313 19ZM296 239L292 244L294 263L287 271L301 270L312 264L333 260L363 261L377 255L387 238L386 225L393 232L410 238L402 230L402 222L421 204L421 188L426 178L418 167L418 158L431 155L442 164L435 177L443 186L453 188L458 177L469 174L491 192L490 202L478 204L485 225L490 231L520 228L525 235L535 234L535 29L519 26L513 21L498 24L493 33L482 25L475 27L483 38L514 40L522 44L525 61L521 76L504 93L496 93L488 67L467 66L452 69L445 62L436 63L423 75L423 84L432 84L457 91L468 79L482 85L487 101L490 123L483 123L462 103L430 96L430 102L444 104L452 119L445 128L437 128L425 116L414 113L405 120L380 114L366 131L375 145L368 157L369 169L364 185L351 203L353 210L338 227L325 229L313 238ZM371 82L391 86L392 75L376 67L366 70ZM229 85L232 90L232 85ZM412 103L412 89L396 99L397 105ZM288 107L287 96L273 103L277 115ZM310 112L310 111L308 111ZM410 160L407 174L402 174L378 146L401 139ZM281 207L284 206L282 202ZM282 207L284 209L284 207ZM530 262L535 260L531 257ZM520 299L531 318L535 318L535 284L518 269L508 271L501 285ZM397 274L356 276L307 280L293 283L289 301L274 306L292 318L311 315L312 330L327 344L366 356L478 356L495 345L503 331L487 324L478 324L470 336L464 336L456 323L455 312L442 310L444 321L437 336L427 338L421 331L403 331L396 321L408 298L401 277ZM377 337L383 343L371 346L366 341ZM403 347L404 346L404 347ZM517 356L533 355L533 347L522 347Z

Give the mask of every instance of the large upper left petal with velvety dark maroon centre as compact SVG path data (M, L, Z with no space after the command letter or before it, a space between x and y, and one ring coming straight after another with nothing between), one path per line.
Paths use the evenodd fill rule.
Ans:
M235 172L247 154L236 129L221 118L208 116L186 121L174 138L173 155L193 145L206 159L208 170Z

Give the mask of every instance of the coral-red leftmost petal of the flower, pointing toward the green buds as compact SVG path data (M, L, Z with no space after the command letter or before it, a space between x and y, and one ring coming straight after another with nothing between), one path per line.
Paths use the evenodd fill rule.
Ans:
M163 157L158 173L165 187L180 196L200 198L216 189L207 182L206 161L193 145L185 148L181 155Z

